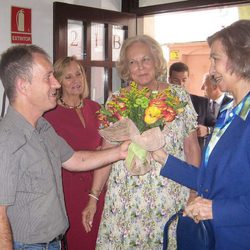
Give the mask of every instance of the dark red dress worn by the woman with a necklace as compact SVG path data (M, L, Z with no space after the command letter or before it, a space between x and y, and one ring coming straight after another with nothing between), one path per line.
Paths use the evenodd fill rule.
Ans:
M83 117L85 127L74 109L57 105L47 112L44 117L52 124L56 132L63 137L76 151L95 150L101 145L98 133L99 122L96 111L99 104L89 99L84 100ZM82 210L86 206L88 193L92 186L93 171L69 172L62 170L62 180L67 214L69 217L69 230L67 242L69 250L94 250L104 203L104 194L98 201L98 209L90 233L86 233L82 225Z

